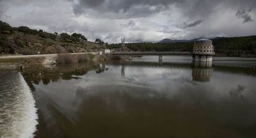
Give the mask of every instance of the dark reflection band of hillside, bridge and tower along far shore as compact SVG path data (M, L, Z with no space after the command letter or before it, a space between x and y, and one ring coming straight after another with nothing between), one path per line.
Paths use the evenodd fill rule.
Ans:
M74 63L69 65L58 65L56 67L36 67L25 70L22 74L27 80L28 85L35 91L33 84L49 84L58 82L60 79L80 79L79 76L85 75L90 70L96 73L103 73L109 69L109 65L121 65L120 75L126 77L126 68L129 67L153 67L153 68L189 68L192 73L193 81L208 82L212 76L212 62L192 62L192 63L164 63L164 62L110 62L110 63ZM244 73L256 75L254 68L214 66L215 71L226 71L230 73Z

